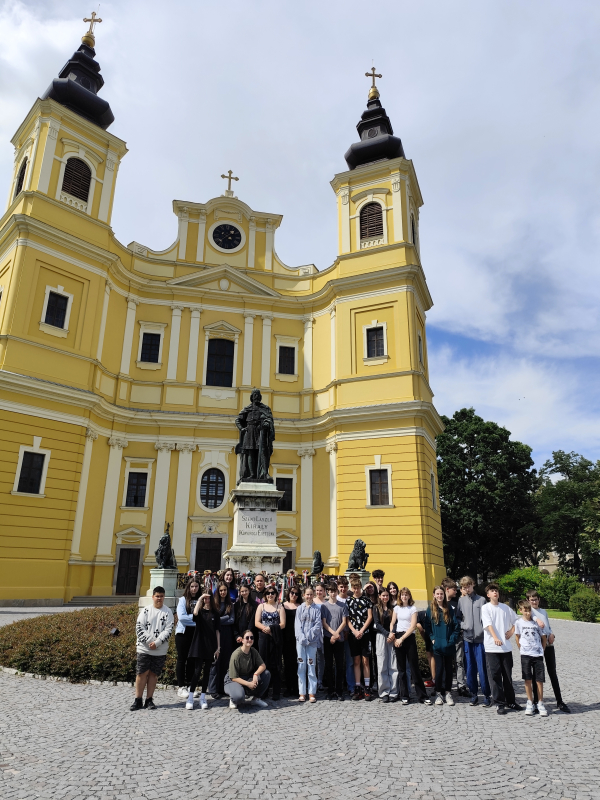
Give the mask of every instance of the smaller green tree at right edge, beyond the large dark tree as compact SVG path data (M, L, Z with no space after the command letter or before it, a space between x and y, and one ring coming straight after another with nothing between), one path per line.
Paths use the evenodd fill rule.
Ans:
M560 476L552 480L551 475ZM536 502L545 540L577 575L600 568L600 461L556 450L540 470Z

